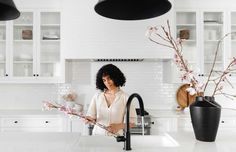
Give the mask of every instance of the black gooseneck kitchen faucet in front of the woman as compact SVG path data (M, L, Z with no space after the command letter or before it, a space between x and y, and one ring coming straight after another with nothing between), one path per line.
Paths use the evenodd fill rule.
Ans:
M134 97L138 98L139 108L140 108L140 112L141 112L140 115L144 116L143 100L139 94L133 93L132 95L130 95L130 97L127 101L127 104L126 104L126 128L125 128L124 136L117 136L116 137L117 142L121 142L121 141L124 142L124 150L131 150L130 128L129 128L129 111L130 111L131 101Z

